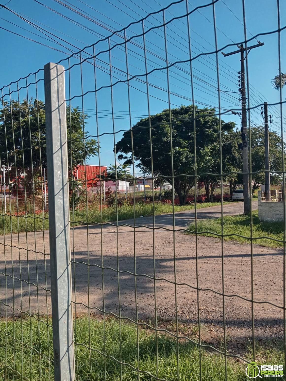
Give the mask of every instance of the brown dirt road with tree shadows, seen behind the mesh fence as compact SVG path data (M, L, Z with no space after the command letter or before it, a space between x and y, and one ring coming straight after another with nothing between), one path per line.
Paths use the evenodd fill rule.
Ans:
M253 208L257 208L257 202L253 202ZM224 215L242 213L243 203L231 203L231 205L224 206L223 211ZM198 210L198 218L219 216L220 207ZM165 319L175 318L176 291L178 319L196 322L198 317L197 291L195 289L197 285L196 238L182 233L182 229L193 219L193 210L176 213L175 232L172 231L172 215L156 216L155 229L152 229L152 217L138 218L135 229L132 227L133 220L121 221L117 228L113 224L105 224L102 234L100 226L90 226L88 231L87 227L75 228L71 234L71 248L73 277L76 279L73 289L76 312L88 312L88 293L90 312L98 313L98 309L102 310L102 285L104 285L105 311L119 314L120 298L121 314L131 318L136 317L135 251L139 317L146 319L155 314L155 267L157 315ZM140 227L140 225L144 226ZM3 237L0 242L4 243ZM50 314L48 232L37 232L35 237L34 233L29 233L27 240L26 234L20 234L19 242L18 235L13 235L12 240L11 237L6 236L5 245L5 253L4 246L0 246L1 315L5 315L4 304L28 313L35 313L39 309L40 313L48 312ZM253 253L254 300L269 301L282 306L283 252L254 245ZM225 297L228 331L235 332L237 336L249 335L251 332L251 302L231 295L238 294L243 298L251 299L251 246L224 242L223 254L225 294L230 295ZM119 272L117 272L117 255ZM89 266L87 265L88 258ZM4 274L7 276L5 277ZM22 282L19 279L22 279ZM202 289L210 288L218 293L222 292L222 242L219 239L198 237L198 285ZM201 322L214 323L221 327L222 296L214 291L199 291ZM19 311L15 310L15 314L18 315ZM12 310L8 308L7 314L11 315L11 312ZM270 304L254 303L254 318L259 335L264 333L266 336L281 334L282 309L275 308Z

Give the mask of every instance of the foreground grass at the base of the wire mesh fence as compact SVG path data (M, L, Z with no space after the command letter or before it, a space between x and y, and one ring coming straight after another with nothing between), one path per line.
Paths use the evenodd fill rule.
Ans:
M31 323L31 326L30 326ZM51 319L48 321L51 324ZM120 360L120 326L114 318L105 320L105 351L103 356L104 325L102 320L90 319L89 343L88 317L76 320L76 373L78 381L135 381L137 371ZM14 339L16 338L16 340ZM177 341L167 333L158 333L158 377L168 381L177 380ZM80 345L82 344L82 345ZM156 376L156 336L145 329L138 332L139 368ZM31 349L29 348L31 346ZM87 347L85 347L87 346ZM89 351L88 347L92 350ZM101 352L101 353L100 353ZM202 349L202 380L222 381L225 379L223 356L217 352ZM90 357L91 356L91 357ZM246 358L251 361L251 345L246 348ZM280 343L257 343L257 361L271 364L283 364L283 346ZM114 359L115 358L115 359ZM53 379L53 340L51 328L47 335L46 323L36 319L0 322L0 379L30 381ZM137 368L137 329L134 324L121 323L121 359L123 363ZM267 362L265 362L267 361ZM180 380L199 380L199 348L196 344L182 339L179 341ZM5 364L9 367L5 367ZM105 371L106 370L106 377ZM227 359L228 380L246 380L246 363ZM5 373L6 372L6 373ZM154 379L141 373L143 381ZM269 378L271 379L271 378Z

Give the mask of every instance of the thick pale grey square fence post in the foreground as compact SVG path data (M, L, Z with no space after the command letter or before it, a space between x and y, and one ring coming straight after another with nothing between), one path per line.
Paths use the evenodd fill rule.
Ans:
M64 67L44 66L55 381L74 381Z

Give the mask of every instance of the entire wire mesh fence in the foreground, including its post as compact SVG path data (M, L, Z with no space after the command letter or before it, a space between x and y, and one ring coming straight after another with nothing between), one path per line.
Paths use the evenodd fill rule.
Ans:
M284 218L277 227L280 235L257 231L255 212L240 225L229 227L230 215L243 209L239 203L240 209L236 209L234 203L225 202L243 184L243 174L247 174L252 193L258 189L257 174L265 173L252 162L256 149L252 131L253 141L259 131L252 125L251 115L262 103L251 98L249 58L243 53L248 136L241 149L249 152L249 170L244 172L242 151L237 149L244 130L235 132L233 122L223 121L241 108L227 107L228 98L222 94L225 87L220 87L223 66L219 60L222 51L236 49L237 44L244 52L254 38L276 34L281 73L281 32L285 27L280 25L278 2L277 29L247 38L243 1L244 39L220 46L215 19L220 2L214 0L192 10L185 0L174 2L51 64L59 71L64 67L66 81L62 125L66 139L60 147L66 147L67 157L63 153L61 171L49 171L49 165L47 173L45 170L51 153L47 152L43 70L2 88L3 379L53 379L54 370L61 379L56 373L61 361L70 364L67 379L77 380L247 379L245 376L257 377L257 369L262 372L256 336L270 338L270 331L282 337L280 357L275 360L285 370L284 100L280 91L280 101L269 104L276 110L280 127L276 151L281 168L268 171L281 188L271 195L277 193L276 198L283 202ZM202 8L212 16L214 47L197 54L192 49L191 19ZM183 33L178 34L177 29ZM156 54L151 45L156 46ZM133 65L134 56L137 65ZM206 57L215 65L215 105L194 98L194 68ZM178 93L172 78L182 75L188 88ZM47 90L45 82L46 94L50 91L54 99L63 91L61 85L50 87ZM178 98L188 104L178 105ZM152 110L154 99L162 111ZM139 106L143 117L136 114ZM110 113L103 115L102 110ZM128 110L124 119L118 117L122 110ZM108 163L102 160L103 151L110 155ZM89 164L94 158L96 166ZM69 224L61 227L66 236L71 227L71 248L66 243L71 258L61 256L66 261L63 273L67 273L66 294L61 294L53 287L60 288L63 280L50 269L52 260L59 259L57 248L50 255L48 245L58 237L57 209L60 212L67 205L55 205L56 194L50 192L49 181L52 184L51 179L65 171L69 179L62 189L69 198ZM206 200L218 202L217 207L199 210L207 205L201 203ZM255 203L250 196L250 210L257 208ZM217 226L204 225L211 217L217 218ZM247 244L226 241L230 238ZM270 272L271 284L267 271L273 266L269 260L273 249L255 245L261 239L270 247L269 242L283 248L274 254L276 270ZM52 292L53 308L54 301L62 303L57 314L51 310ZM68 349L74 346L74 359L68 361L68 351L57 352L69 341L59 329L66 324L60 308L66 308L68 319L73 320L73 342ZM273 330L268 332L269 326ZM243 338L249 340L247 349L244 344L239 346Z

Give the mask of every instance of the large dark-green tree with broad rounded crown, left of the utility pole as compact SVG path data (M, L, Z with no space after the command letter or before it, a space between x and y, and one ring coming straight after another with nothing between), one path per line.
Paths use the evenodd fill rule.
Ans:
M209 170L212 162L214 145L219 144L219 118L215 109L199 109L194 106L196 117L196 165L197 174ZM169 109L149 118L141 119L132 128L134 160L143 173L150 174L153 164L155 176L165 176L172 184L172 165L174 168L174 191L177 193L180 205L186 203L188 193L195 182L194 153L194 116L193 105ZM172 126L172 152L171 128ZM233 122L221 121L222 131L232 130ZM151 141L149 131L151 130ZM151 143L153 163L151 163ZM118 159L124 164L132 163L131 131L125 131L122 139L116 144Z

